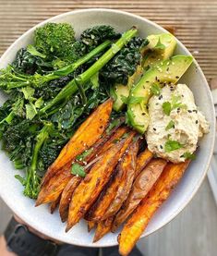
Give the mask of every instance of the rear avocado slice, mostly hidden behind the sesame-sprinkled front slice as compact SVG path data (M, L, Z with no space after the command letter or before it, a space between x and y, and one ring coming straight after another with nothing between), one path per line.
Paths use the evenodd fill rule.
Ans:
M125 99L133 84L137 83L142 75L143 67L151 67L163 59L167 59L174 54L175 37L170 33L153 34L147 37L149 44L142 49L142 55L145 57L136 72L128 79L127 85L115 84L111 90L115 102L113 108L116 112L123 110Z

